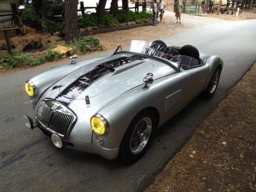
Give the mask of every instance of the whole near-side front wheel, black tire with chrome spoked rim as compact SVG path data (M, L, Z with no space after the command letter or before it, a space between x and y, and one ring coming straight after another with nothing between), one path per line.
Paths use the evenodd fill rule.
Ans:
M145 153L155 129L153 112L144 111L136 115L123 136L119 157L127 163L139 160Z

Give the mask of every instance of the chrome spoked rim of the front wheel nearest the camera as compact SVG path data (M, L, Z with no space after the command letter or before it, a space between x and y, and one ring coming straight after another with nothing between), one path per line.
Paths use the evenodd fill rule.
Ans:
M133 130L130 140L132 154L140 153L149 141L152 131L152 120L150 117L142 118Z

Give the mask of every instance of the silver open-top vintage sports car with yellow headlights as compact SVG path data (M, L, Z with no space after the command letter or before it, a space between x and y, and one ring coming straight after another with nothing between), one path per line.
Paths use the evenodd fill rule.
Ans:
M223 60L191 45L132 41L111 56L51 69L27 80L35 112L24 116L53 144L138 160L157 128L203 92L210 98L219 83Z

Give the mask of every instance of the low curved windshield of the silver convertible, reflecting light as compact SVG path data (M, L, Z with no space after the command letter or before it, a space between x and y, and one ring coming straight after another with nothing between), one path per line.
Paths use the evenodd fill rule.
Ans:
M168 64L177 72L180 67L179 65L181 58L172 56L173 48L166 47L165 45L159 43L133 40L130 46L121 47L119 45L113 54L117 53L136 53L137 55L143 55L148 58L156 59Z

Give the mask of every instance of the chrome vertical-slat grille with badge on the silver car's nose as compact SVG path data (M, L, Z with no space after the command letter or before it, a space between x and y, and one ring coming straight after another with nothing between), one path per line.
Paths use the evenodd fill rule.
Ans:
M76 121L75 114L68 107L52 99L44 99L40 103L36 118L43 128L58 133L65 139L68 138Z

